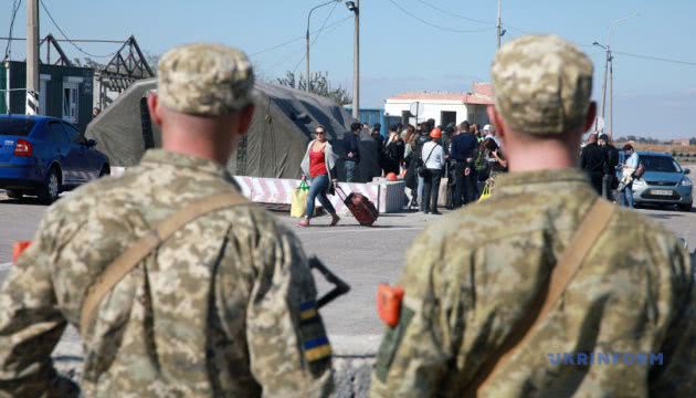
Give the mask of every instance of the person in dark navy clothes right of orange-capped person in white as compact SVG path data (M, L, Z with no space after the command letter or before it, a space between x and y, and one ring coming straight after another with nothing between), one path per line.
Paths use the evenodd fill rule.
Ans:
M474 160L478 140L476 135L470 129L467 122L462 122L460 129L462 133L452 139L450 157L455 161L454 166L454 208L476 200L476 176Z

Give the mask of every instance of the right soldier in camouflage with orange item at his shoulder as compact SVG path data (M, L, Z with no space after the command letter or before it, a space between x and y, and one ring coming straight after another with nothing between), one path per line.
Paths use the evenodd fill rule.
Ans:
M577 168L594 117L593 67L557 36L524 36L493 63L489 109L509 159L485 202L414 242L399 324L372 397L461 397L525 316L598 195ZM688 254L621 208L526 344L479 397L696 397L696 293ZM572 250L572 248L570 248ZM557 353L662 353L662 365L562 365Z

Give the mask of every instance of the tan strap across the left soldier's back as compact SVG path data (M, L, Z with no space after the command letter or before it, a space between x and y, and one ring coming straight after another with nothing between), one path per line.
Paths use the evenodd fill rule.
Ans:
M138 239L128 249L126 249L125 252L117 256L114 262L108 264L87 290L82 304L80 317L80 332L83 336L96 315L96 308L106 293L108 293L118 282L120 282L120 280L124 279L124 276L126 276L164 241L187 223L201 216L232 206L245 203L249 203L246 198L235 191L212 195L186 206L183 209L161 221L157 228L146 232L143 238Z

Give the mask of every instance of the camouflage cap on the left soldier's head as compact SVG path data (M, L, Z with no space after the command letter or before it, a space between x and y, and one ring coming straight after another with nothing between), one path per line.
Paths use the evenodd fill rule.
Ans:
M246 55L222 44L175 48L158 65L157 93L168 108L200 116L220 116L252 102L254 73Z

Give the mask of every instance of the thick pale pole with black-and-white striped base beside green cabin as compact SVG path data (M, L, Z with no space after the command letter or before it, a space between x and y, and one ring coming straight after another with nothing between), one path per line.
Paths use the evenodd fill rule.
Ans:
M39 0L27 0L27 114L39 113Z

